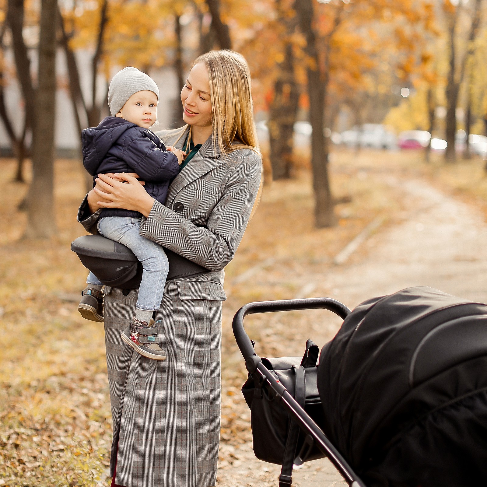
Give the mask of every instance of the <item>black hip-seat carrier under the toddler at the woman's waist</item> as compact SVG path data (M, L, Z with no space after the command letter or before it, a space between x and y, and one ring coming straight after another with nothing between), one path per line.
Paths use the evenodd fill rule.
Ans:
M71 250L103 284L123 289L139 287L143 267L127 246L101 235L84 235L71 244ZM208 269L195 262L168 249L165 251L169 261L168 281L196 277L208 272Z

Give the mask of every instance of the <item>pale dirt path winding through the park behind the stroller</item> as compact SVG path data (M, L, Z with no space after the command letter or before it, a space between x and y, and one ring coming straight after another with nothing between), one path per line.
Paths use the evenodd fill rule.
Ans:
M424 181L388 182L397 187L408 208L400 215L401 222L379 229L350 263L326 273L303 269L290 276L300 282L301 294L330 296L353 308L373 296L428 285L486 302L487 225L481 213ZM307 333L320 345L333 336L339 325L333 319L314 323ZM243 402L236 401L235 408L245 419L248 410ZM278 485L279 468L256 460L251 443L237 447L224 444L220 457L219 486ZM327 460L305 464L293 480L295 486L345 485Z

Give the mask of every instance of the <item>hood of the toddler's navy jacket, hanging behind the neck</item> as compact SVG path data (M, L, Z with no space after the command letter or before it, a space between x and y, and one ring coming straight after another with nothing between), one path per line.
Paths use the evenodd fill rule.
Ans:
M117 140L128 130L138 127L119 117L105 117L98 127L91 127L81 132L81 150L83 166L94 176Z

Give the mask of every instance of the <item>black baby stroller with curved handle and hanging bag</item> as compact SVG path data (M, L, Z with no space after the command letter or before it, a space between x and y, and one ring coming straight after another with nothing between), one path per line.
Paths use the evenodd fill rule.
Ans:
M323 308L344 319L321 350L261 358L253 313ZM294 465L327 456L352 487L487 485L487 305L429 287L367 300L254 302L233 319L249 373L257 458Z

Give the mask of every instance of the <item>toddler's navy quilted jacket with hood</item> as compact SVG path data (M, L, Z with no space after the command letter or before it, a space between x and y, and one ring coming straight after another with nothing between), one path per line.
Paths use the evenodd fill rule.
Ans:
M177 157L166 150L159 137L119 117L105 117L98 127L81 133L83 166L93 176L108 172L136 172L146 182L146 191L166 202L170 181L178 174ZM104 208L101 217L141 217L136 211Z

